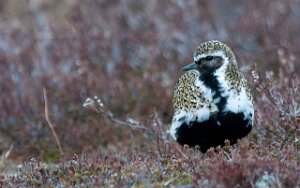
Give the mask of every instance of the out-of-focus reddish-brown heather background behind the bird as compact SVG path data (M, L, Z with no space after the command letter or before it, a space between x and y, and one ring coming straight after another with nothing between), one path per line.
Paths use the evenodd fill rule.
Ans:
M100 97L120 119L157 112L167 128L179 70L201 42L232 47L253 86L254 64L276 77L278 54L299 58L299 18L296 0L1 0L0 153L13 145L15 160L59 157L43 88L67 153L143 150L139 131L112 126L85 99Z

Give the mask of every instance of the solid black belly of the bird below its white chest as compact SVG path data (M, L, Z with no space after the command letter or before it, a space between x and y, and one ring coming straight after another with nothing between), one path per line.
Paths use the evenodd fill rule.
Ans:
M219 122L219 124L217 123ZM226 113L211 117L204 122L183 123L176 132L177 142L190 147L198 145L202 152L210 147L223 146L228 139L231 144L246 136L252 128L251 119L243 113Z

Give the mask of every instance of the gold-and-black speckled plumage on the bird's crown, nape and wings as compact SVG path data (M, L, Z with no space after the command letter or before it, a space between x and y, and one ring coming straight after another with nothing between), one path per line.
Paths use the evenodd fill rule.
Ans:
M247 96L250 100L252 100L249 84L244 76L238 71L235 56L232 50L226 44L216 40L202 43L196 49L194 57L216 51L224 52L224 55L230 62L225 70L225 77L229 83L230 90L234 90L239 93L241 88L245 87L247 90ZM195 85L195 81L199 76L200 73L196 70L188 71L180 76L175 86L173 95L174 109L191 111L202 108L204 104L210 102L203 97L201 88Z

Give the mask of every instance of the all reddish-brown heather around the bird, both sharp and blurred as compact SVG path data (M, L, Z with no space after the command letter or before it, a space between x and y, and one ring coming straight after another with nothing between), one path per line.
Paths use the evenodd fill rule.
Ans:
M1 0L0 187L299 187L299 17L295 0ZM203 154L168 128L211 39L237 55L255 124Z

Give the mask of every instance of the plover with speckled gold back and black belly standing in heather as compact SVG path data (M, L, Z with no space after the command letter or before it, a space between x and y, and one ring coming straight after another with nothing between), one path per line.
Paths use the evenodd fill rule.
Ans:
M254 120L251 89L233 51L218 40L203 42L184 66L173 93L170 135L181 145L233 145L247 136Z

